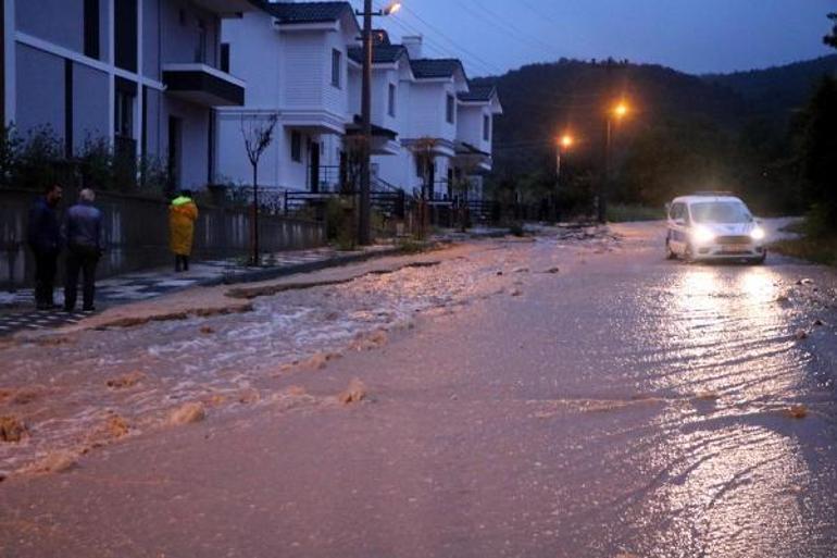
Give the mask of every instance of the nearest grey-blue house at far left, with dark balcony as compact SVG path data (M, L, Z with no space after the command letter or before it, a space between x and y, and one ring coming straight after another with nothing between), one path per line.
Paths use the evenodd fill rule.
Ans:
M213 107L241 106L221 70L221 22L249 0L5 0L2 121L50 128L67 157L103 138L161 160L173 187L202 187L214 161Z

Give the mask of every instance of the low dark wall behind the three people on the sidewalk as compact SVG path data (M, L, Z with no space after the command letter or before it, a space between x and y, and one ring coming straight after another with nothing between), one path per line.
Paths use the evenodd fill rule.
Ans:
M28 211L35 197L29 190L0 189L0 285L7 288L32 282L34 262L25 245ZM70 202L65 199L62 207L66 208ZM99 276L172 263L165 201L101 193L96 204L104 213L107 246ZM199 210L195 228L196 258L248 253L251 213L247 209L201 207ZM314 248L325 244L325 225L288 216L260 215L259 235L265 252Z

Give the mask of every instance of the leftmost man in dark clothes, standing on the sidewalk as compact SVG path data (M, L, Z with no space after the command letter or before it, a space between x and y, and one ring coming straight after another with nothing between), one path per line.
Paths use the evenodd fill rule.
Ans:
M38 310L55 308L52 289L61 252L61 228L55 208L61 196L61 186L53 184L29 210L27 240L35 255L35 303Z

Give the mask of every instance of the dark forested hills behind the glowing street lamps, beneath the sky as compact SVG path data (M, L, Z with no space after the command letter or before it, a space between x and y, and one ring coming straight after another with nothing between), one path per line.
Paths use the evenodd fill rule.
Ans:
M837 72L837 55L708 76L660 65L561 60L478 82L498 85L504 114L495 131L496 171L508 175L545 164L553 152L554 137L565 129L572 129L588 147L600 144L603 111L620 97L633 108L623 137L671 122L709 123L736 131L758 119L771 120L774 129L784 133L787 116L829 72Z

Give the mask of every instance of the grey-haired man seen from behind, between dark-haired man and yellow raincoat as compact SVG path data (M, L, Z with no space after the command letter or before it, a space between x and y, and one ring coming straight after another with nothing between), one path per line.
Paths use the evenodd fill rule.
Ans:
M67 210L64 230L67 243L64 310L73 312L78 297L78 274L84 277L83 306L92 312L96 265L102 253L102 212L93 207L96 195L89 188L78 195L78 203Z

